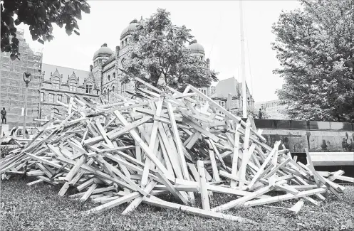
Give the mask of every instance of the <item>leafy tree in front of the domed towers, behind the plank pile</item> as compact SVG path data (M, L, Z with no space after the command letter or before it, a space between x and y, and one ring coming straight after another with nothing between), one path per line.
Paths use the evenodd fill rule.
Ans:
M140 77L155 87L167 85L177 90L187 84L202 87L217 81L217 73L187 49L185 44L192 38L185 26L172 24L169 12L157 9L156 14L142 19L132 34L134 45L123 66L128 73L123 81Z

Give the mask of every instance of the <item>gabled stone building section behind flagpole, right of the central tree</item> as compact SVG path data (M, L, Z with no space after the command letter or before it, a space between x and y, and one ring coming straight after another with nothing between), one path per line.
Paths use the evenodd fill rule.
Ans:
M215 86L215 92L212 95L212 100L215 100L224 108L227 108L227 97L231 94L231 113L242 115L242 82L238 82L234 77L226 80L220 80ZM249 87L246 84L246 102L247 110L254 111L254 98L249 92ZM222 114L222 112L219 112Z

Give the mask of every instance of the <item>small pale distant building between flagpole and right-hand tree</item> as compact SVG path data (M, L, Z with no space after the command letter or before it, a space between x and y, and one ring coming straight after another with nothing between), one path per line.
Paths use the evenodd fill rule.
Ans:
M256 110L262 109L262 111L265 112L266 117L263 119L288 119L288 116L283 112L285 107L286 106L282 104L280 100L256 103Z

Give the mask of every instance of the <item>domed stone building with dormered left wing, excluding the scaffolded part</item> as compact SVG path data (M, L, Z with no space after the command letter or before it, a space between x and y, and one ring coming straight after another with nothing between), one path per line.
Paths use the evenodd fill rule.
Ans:
M50 118L55 114L63 115L66 108L57 102L70 100L70 95L76 94L79 97L98 98L103 97L108 102L115 102L117 95L130 96L127 91L134 92L135 82L123 83L123 72L125 60L130 53L132 33L137 26L137 20L133 20L120 34L120 45L113 51L104 43L93 54L93 64L89 71L63 68L43 63L42 85L41 85L41 109L40 117ZM189 43L188 47L192 55L205 60L205 52L202 45L197 41ZM210 60L205 60L205 65L210 70ZM199 88L205 95L214 94L214 87L205 86Z

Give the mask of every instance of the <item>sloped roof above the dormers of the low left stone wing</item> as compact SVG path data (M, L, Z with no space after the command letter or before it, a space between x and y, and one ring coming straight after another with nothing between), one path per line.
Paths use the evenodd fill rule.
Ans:
M47 81L50 80L51 79L51 72L54 74L54 72L56 72L57 70L60 75L63 75L62 82L66 82L68 80L68 77L73 75L73 73L75 72L75 75L77 77L79 77L79 82L78 82L79 85L83 85L83 81L85 80L85 78L87 78L88 75L90 75L90 72L86 71L86 70L78 70L78 69L74 69L74 68L64 68L61 66L43 63L42 64L42 73L44 73L43 80L47 80Z

